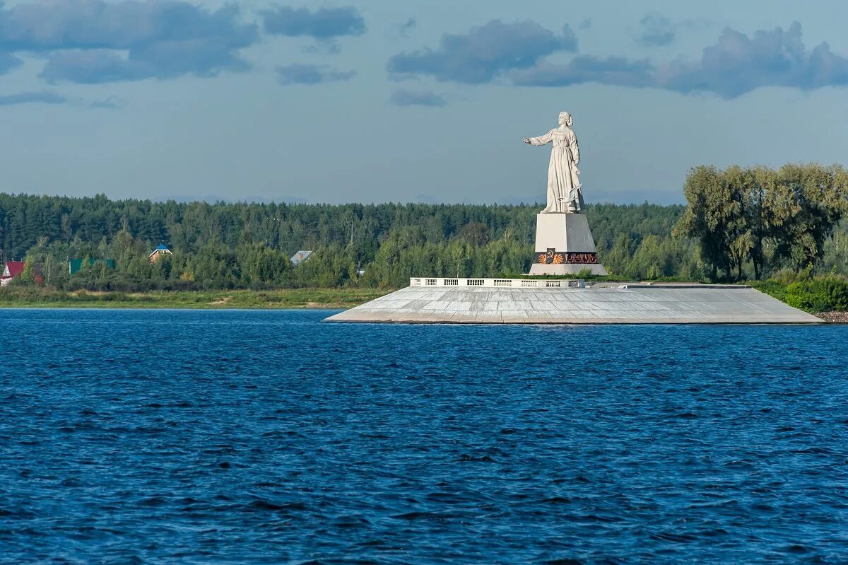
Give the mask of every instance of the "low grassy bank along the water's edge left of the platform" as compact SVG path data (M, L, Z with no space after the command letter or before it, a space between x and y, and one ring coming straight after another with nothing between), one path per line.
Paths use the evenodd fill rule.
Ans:
M9 287L0 289L0 308L352 308L388 292L375 288L282 288L121 293Z

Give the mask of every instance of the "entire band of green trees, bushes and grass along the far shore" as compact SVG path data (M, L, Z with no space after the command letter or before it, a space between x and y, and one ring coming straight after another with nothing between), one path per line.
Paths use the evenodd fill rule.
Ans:
M805 310L848 309L844 169L700 166L689 171L683 193L686 206L588 207L609 278L750 279ZM0 194L0 249L26 261L0 304L344 306L421 273L514 277L529 268L538 209ZM151 264L159 242L174 255ZM294 267L289 257L298 249L315 253ZM95 265L70 276L69 257L114 259L115 268ZM42 286L31 277L36 266Z

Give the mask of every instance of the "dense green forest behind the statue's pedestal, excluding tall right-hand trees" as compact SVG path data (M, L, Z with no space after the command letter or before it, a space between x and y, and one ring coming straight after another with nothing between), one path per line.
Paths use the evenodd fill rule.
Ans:
M0 194L0 243L62 288L398 287L409 277L527 272L539 204L208 204ZM590 206L599 249L619 272L672 276L691 242L673 240L683 206ZM623 236L623 237L622 237ZM174 255L151 265L158 243ZM314 249L293 267L289 258ZM633 254L633 249L636 253ZM114 259L68 277L68 258ZM357 275L357 268L365 270Z

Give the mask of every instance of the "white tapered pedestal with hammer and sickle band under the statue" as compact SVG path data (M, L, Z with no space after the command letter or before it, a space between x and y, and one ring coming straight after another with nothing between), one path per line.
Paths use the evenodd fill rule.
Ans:
M606 275L598 262L594 238L584 214L539 214L536 216L536 252L531 275L576 275L589 269Z

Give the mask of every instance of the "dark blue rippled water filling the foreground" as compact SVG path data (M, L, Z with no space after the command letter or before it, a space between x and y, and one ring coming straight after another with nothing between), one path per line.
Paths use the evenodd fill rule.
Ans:
M2 315L2 562L848 562L845 326Z

